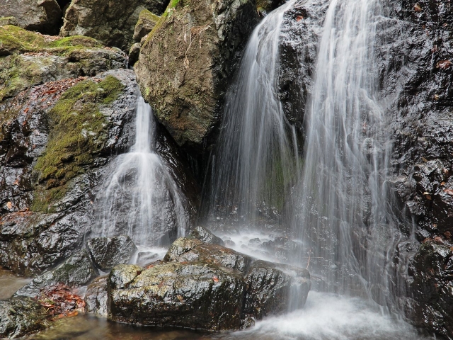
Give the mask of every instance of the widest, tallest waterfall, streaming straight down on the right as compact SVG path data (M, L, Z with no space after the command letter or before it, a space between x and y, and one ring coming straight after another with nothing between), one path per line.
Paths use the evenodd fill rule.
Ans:
M330 1L293 227L306 248L301 257L330 290L386 304L399 234L384 185L392 143L374 56L381 12L376 0Z

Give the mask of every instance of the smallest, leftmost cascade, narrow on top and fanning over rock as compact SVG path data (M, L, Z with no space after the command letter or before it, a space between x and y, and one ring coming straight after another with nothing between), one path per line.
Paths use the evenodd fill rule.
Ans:
M188 228L185 198L170 169L154 151L155 123L142 96L137 101L135 142L121 154L98 198L96 236L128 234L137 246L159 246Z

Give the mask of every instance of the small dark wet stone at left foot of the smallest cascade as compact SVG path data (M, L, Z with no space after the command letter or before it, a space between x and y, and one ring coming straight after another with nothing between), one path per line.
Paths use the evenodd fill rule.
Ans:
M95 237L86 244L95 266L102 271L128 263L138 251L132 239L127 235L117 237Z

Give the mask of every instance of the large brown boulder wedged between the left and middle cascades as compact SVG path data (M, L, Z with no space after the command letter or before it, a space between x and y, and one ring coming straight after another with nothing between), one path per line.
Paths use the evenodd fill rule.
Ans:
M137 81L178 145L202 148L257 22L251 0L179 0L149 33L134 67Z

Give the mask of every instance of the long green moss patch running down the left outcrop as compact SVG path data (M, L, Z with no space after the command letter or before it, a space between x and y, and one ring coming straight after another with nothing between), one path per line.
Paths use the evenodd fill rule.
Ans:
M47 147L34 169L41 186L33 210L50 212L52 203L67 192L67 182L93 163L93 155L101 152L108 137L108 120L99 109L113 102L122 89L121 81L108 76L99 84L81 81L59 98L49 113Z

